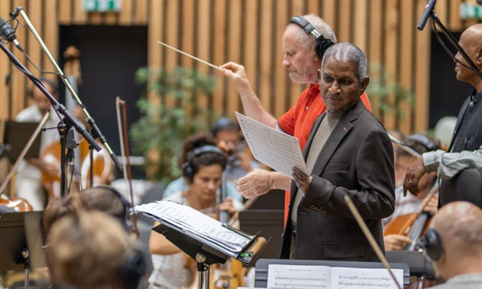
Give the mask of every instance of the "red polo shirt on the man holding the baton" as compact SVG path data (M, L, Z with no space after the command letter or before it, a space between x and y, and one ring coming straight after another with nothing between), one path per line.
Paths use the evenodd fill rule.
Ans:
M362 102L366 109L371 111L370 100L364 92L361 96ZM322 96L319 94L319 84L311 84L304 92L302 92L300 98L294 107L291 107L286 114L283 114L278 120L280 128L297 138L300 142L300 147L303 150L308 136L311 131L311 127L316 118L326 111L326 105L323 102ZM290 191L286 191L284 195L284 220L286 223L288 217L288 205L289 205Z

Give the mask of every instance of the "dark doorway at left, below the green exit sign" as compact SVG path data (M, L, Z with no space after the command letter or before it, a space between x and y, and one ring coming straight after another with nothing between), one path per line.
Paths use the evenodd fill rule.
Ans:
M114 153L120 155L116 96L127 102L130 127L139 118L136 100L144 90L134 82L134 73L147 65L147 26L61 26L61 55L69 45L81 51L83 84L79 87L79 96ZM60 63L63 67L63 57ZM65 100L63 85L60 96Z

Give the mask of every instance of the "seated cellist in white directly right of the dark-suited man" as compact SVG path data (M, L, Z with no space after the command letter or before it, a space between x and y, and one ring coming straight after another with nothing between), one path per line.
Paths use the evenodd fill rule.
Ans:
M408 136L408 138L404 140L404 143L420 154L427 151L440 149L441 147L441 144L438 140L435 140L434 138L424 134L413 134ZM410 155L410 153L404 151L404 149L399 146L396 149L395 155L397 156L397 159L395 160L395 168L398 167L401 169L401 171L406 171L406 169L410 167L415 160L417 160L417 158ZM395 211L392 215L390 215L390 217L382 220L382 224L384 225L386 232L387 230L390 232L397 230L395 227L397 224L399 224L399 220L405 219L404 217L400 216L418 213L420 208L431 215L437 213L437 204L439 202L438 191L432 197L427 197L428 192L430 189L432 189L436 177L436 173L424 175L419 184L421 193L416 197L412 194L407 194L404 196L404 191L401 189L401 186L395 190ZM402 175L401 179L403 180L404 178L405 175ZM396 220L397 217L399 217L398 220ZM405 235L393 233L384 235L385 250L402 250L407 243L411 242L412 240Z

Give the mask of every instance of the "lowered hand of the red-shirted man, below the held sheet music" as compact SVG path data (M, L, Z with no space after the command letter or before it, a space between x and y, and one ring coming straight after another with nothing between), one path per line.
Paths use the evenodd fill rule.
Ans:
M274 173L264 169L253 169L236 182L236 189L247 199L264 195L273 189Z

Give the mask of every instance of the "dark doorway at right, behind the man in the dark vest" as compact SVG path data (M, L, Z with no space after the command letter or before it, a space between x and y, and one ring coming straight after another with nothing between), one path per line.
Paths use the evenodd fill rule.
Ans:
M461 33L453 33L457 41ZM440 34L443 39L443 35ZM434 127L444 116L457 116L465 98L472 92L472 86L455 78L455 63L443 50L432 32L430 48L430 118L429 127ZM452 54L455 49L447 44Z

